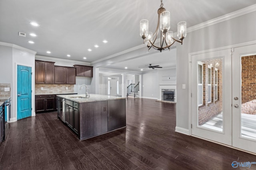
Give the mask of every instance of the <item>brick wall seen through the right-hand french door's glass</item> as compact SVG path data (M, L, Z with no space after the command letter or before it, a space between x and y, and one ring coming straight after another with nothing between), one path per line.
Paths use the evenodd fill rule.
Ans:
M242 113L256 115L256 55L241 57Z

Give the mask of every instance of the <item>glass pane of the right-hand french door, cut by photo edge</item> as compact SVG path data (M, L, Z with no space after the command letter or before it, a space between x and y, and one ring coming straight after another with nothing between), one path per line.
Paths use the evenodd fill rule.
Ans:
M241 135L256 139L256 55L241 57Z

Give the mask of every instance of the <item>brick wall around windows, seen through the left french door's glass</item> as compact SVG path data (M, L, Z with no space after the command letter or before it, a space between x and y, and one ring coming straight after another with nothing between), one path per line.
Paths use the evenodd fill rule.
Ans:
M202 88L203 88L203 105L198 107L198 125L202 125L208 120L210 120L212 117L215 117L219 113L222 112L222 59L212 59L212 60L206 60L201 61L203 64L203 82L202 82ZM210 66L211 69L211 102L208 103L208 66ZM215 68L218 69L217 72L217 86L218 86L218 94L217 99L215 97ZM210 83L209 83L210 84Z

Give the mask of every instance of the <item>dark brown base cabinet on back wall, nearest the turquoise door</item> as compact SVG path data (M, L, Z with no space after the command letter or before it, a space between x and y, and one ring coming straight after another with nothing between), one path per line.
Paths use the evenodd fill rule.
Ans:
M36 95L36 113L55 111L53 95Z

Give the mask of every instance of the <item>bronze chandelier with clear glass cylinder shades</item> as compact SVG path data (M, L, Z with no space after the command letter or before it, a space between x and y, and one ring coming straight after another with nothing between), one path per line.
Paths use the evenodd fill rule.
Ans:
M174 39L173 32L169 31L170 29L170 12L166 11L165 8L163 8L163 2L161 0L160 8L157 10L158 14L158 21L156 26L156 31L153 34L152 32L148 32L148 20L141 20L140 21L140 36L143 39L143 43L146 43L146 46L148 47L148 51L153 47L154 49L159 50L162 52L162 50L168 48L170 51L170 47L175 43L175 41L182 44L183 39L186 37L186 22L181 21L178 23L178 32L177 36L180 39ZM160 46L155 45L155 41L159 32L159 26L160 26ZM164 45L165 43L165 45Z

